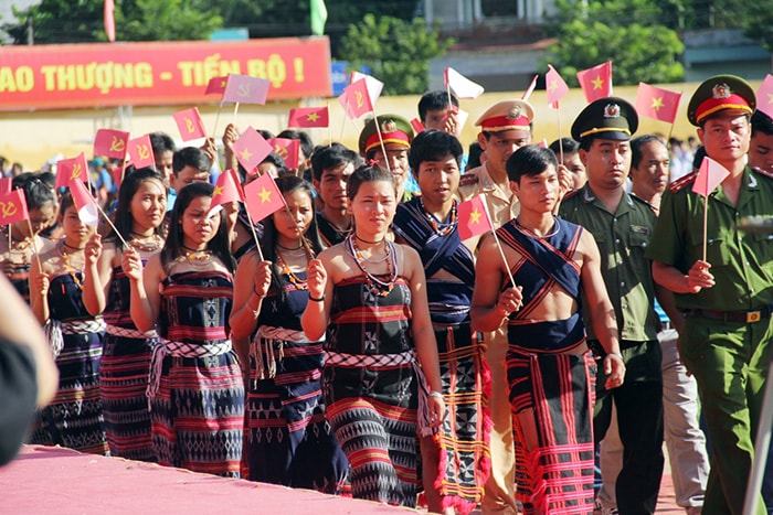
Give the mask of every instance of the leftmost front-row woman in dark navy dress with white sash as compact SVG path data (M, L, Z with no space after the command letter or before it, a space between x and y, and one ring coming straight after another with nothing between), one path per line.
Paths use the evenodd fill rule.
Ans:
M30 441L107 454L99 398L105 323L86 310L82 291L83 270L94 259L84 248L94 228L81 221L68 193L62 199L60 223L64 237L30 270L32 312L46 326L60 372L56 397L40 412Z

